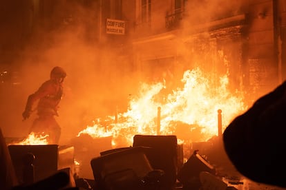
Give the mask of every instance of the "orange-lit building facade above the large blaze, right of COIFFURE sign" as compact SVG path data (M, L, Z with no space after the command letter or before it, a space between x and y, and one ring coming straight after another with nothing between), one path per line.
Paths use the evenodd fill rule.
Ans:
M227 73L233 88L257 98L286 78L285 19L279 0L136 1L135 65Z

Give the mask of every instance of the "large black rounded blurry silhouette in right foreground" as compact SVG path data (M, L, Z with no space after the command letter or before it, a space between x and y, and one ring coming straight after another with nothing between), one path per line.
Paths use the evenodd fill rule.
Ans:
M223 142L242 175L286 187L286 81L237 116L225 129Z

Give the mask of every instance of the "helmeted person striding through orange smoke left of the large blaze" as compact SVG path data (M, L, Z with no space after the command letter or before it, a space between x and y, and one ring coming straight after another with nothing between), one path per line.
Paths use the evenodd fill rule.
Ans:
M55 116L58 116L57 109L63 95L64 78L66 78L64 69L54 67L50 72L50 80L44 82L34 94L28 96L26 108L22 114L23 120L29 118L32 107L36 101L39 101L36 108L38 117L32 123L30 133L48 135L48 144L58 144L61 135L61 128Z

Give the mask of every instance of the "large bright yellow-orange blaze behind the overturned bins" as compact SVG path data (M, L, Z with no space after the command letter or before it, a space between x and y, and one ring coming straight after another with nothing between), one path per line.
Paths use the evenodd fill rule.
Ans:
M79 132L93 138L113 136L114 146L132 145L135 134L175 134L179 140L206 141L218 135L218 109L222 110L222 131L246 109L243 94L227 90L227 75L213 85L200 68L187 70L178 87L166 94L164 83L142 83L128 110L105 120L97 118L93 126Z

